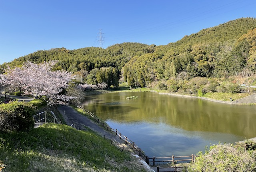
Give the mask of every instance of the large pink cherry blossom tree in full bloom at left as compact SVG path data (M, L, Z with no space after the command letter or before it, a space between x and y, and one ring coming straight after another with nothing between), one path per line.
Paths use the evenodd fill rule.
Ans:
M24 91L25 95L31 95L35 99L46 96L50 102L66 102L72 96L61 94L72 80L72 73L67 71L52 71L58 61L34 64L26 62L21 68L7 68L5 74L0 74L1 82L12 88Z

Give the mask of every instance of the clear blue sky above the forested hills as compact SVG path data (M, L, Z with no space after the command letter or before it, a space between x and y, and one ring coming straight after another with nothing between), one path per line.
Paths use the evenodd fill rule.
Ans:
M256 18L256 0L0 0L0 64L37 50L123 42L166 45Z

